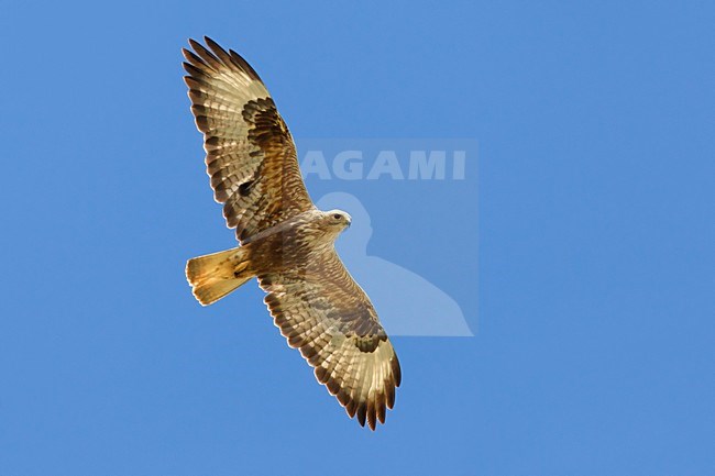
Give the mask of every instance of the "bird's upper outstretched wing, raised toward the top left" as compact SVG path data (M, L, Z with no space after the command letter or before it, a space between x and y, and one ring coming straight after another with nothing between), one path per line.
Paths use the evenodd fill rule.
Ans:
M184 77L204 133L213 197L239 241L314 208L286 123L253 68L209 37L189 40Z

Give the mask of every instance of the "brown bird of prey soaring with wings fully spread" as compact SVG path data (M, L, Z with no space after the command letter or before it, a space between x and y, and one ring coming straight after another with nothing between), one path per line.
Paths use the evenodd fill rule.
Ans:
M321 211L300 176L296 146L255 70L209 37L183 49L196 126L204 133L213 197L240 246L186 264L204 306L252 278L275 325L348 414L374 430L395 403L400 367L367 295L334 248L350 226Z

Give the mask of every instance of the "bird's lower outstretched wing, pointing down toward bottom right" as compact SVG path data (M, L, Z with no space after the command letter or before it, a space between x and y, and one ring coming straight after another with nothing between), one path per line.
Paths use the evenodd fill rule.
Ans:
M397 355L367 295L338 254L322 253L298 270L258 276L265 302L288 345L298 347L348 414L374 430L395 403Z

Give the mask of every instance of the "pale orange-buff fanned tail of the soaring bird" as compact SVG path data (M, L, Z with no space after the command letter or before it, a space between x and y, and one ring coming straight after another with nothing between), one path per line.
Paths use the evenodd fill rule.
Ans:
M248 250L235 247L189 259L186 279L196 299L201 306L208 306L254 277L250 265Z

